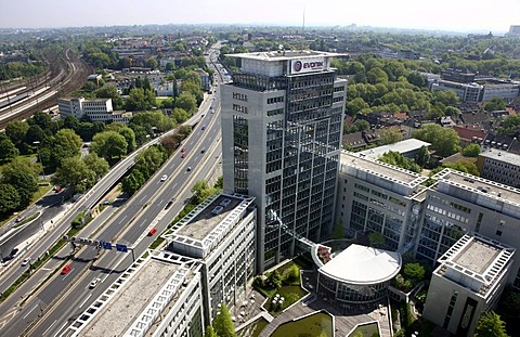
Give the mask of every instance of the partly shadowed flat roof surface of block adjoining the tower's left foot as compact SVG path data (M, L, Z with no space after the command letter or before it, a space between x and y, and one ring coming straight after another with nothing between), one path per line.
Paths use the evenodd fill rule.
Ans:
M213 213L213 210L226 199L230 200L227 206L223 207L220 213ZM203 241L242 202L244 202L244 198L238 198L225 194L219 195L219 197L217 197L211 204L203 208L200 212L198 212L187 223L181 226L176 232L176 234L187 236L197 241Z

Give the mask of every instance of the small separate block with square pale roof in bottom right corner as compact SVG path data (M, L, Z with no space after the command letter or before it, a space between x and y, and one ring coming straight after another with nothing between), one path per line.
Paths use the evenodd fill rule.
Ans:
M460 237L438 261L422 315L456 336L473 336L482 313L498 302L514 254L496 241Z

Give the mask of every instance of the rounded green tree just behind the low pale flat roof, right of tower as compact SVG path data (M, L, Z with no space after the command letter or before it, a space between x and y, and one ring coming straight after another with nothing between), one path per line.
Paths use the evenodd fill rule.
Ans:
M447 157L460 151L460 139L451 128L443 128L437 124L424 125L414 131L414 138L431 144L431 148L440 156Z

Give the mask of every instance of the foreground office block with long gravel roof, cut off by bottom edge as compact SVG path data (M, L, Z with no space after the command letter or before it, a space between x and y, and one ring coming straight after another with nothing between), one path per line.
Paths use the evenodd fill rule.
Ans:
M200 264L174 254L139 258L66 329L67 336L203 336Z

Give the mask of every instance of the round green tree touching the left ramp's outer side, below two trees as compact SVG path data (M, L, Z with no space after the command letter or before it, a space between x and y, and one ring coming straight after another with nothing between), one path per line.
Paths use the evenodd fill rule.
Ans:
M53 181L61 185L83 193L95 184L95 172L79 157L70 157L62 160L56 169Z

